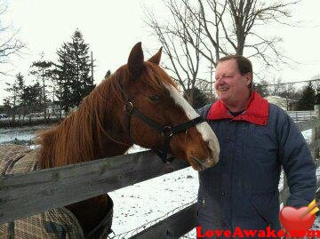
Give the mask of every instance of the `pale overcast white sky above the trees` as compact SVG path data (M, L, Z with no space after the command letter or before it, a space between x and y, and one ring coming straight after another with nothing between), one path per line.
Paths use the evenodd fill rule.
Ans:
M96 67L95 83L99 84L108 69L114 72L126 63L132 46L142 42L148 52L156 52L161 46L144 20L143 7L153 10L156 16L168 18L161 0L6 0L8 10L5 21L19 29L20 39L28 48L20 58L13 58L11 76L0 76L0 104L6 92L5 82L12 82L19 72L31 81L28 68L34 60L57 60L56 52L64 42L71 39L78 28L84 41L90 45ZM309 80L320 75L320 1L304 0L293 9L294 21L300 21L300 28L277 26L266 28L271 36L283 37L280 45L284 54L298 63L294 68L284 66L271 75L281 77L284 82ZM145 52L145 58L150 56ZM165 58L163 58L165 60ZM165 63L165 62L164 62ZM0 66L3 68L4 66ZM254 68L254 63L253 63ZM204 77L210 77L208 72ZM206 75L205 75L206 74Z

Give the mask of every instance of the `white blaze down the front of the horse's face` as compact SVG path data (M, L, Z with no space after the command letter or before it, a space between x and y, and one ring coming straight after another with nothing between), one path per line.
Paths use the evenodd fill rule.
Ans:
M180 93L170 84L164 84L164 87L170 92L170 96L175 101L175 103L183 108L186 116L189 120L192 120L199 116L199 114L196 113L196 110L192 108L186 99L180 95ZM208 142L208 147L212 150L212 154L216 156L216 163L219 161L219 141L217 137L215 136L214 132L212 131L212 128L209 126L208 123L198 123L196 124L196 130L199 131L199 133L202 135L202 138L204 139L204 142ZM207 159L210 160L210 159ZM209 162L208 162L209 163Z

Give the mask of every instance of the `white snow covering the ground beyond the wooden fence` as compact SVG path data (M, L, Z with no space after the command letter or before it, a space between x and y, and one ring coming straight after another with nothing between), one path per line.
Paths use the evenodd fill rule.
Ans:
M44 125L0 129L0 144L12 141L12 139L32 139L35 131L42 129ZM308 143L311 141L311 130L302 131L302 135ZM134 146L129 149L128 153L132 154L141 150L145 149ZM317 170L317 175L320 175L320 169ZM283 175L279 189L282 188L282 185ZM171 215L174 209L195 202L197 187L197 172L187 168L110 192L109 195L115 203L112 228L116 235L130 230L133 230L134 233L135 228L164 217L167 213ZM316 227L320 225L318 219L315 225ZM124 238L130 235L130 233L124 235ZM195 231L188 236L194 238Z

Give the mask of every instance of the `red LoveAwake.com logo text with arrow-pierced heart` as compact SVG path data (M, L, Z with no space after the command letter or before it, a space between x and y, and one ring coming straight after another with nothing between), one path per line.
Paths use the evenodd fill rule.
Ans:
M280 222L284 229L276 231L267 227L265 230L249 230L236 227L234 231L231 230L207 230L203 231L202 227L196 227L197 238L210 238L213 236L226 238L244 238L244 237L264 237L264 238L276 238L276 237L320 237L320 230L309 230L313 225L316 216L316 211L319 211L317 207L318 203L313 200L308 204L308 207L301 207L296 209L293 207L284 207L280 211Z

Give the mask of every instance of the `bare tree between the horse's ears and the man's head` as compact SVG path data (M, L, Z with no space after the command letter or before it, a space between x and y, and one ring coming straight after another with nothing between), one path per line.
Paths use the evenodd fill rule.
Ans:
M200 12L196 12L195 9L191 12L186 7L181 10L181 5L174 1L167 4L173 16L172 23L161 26L151 12L148 12L146 23L154 29L154 34L170 60L170 64L164 65L164 68L173 74L172 78L180 84L188 102L193 105L193 89L201 56L199 52L201 28L195 15L199 18Z

